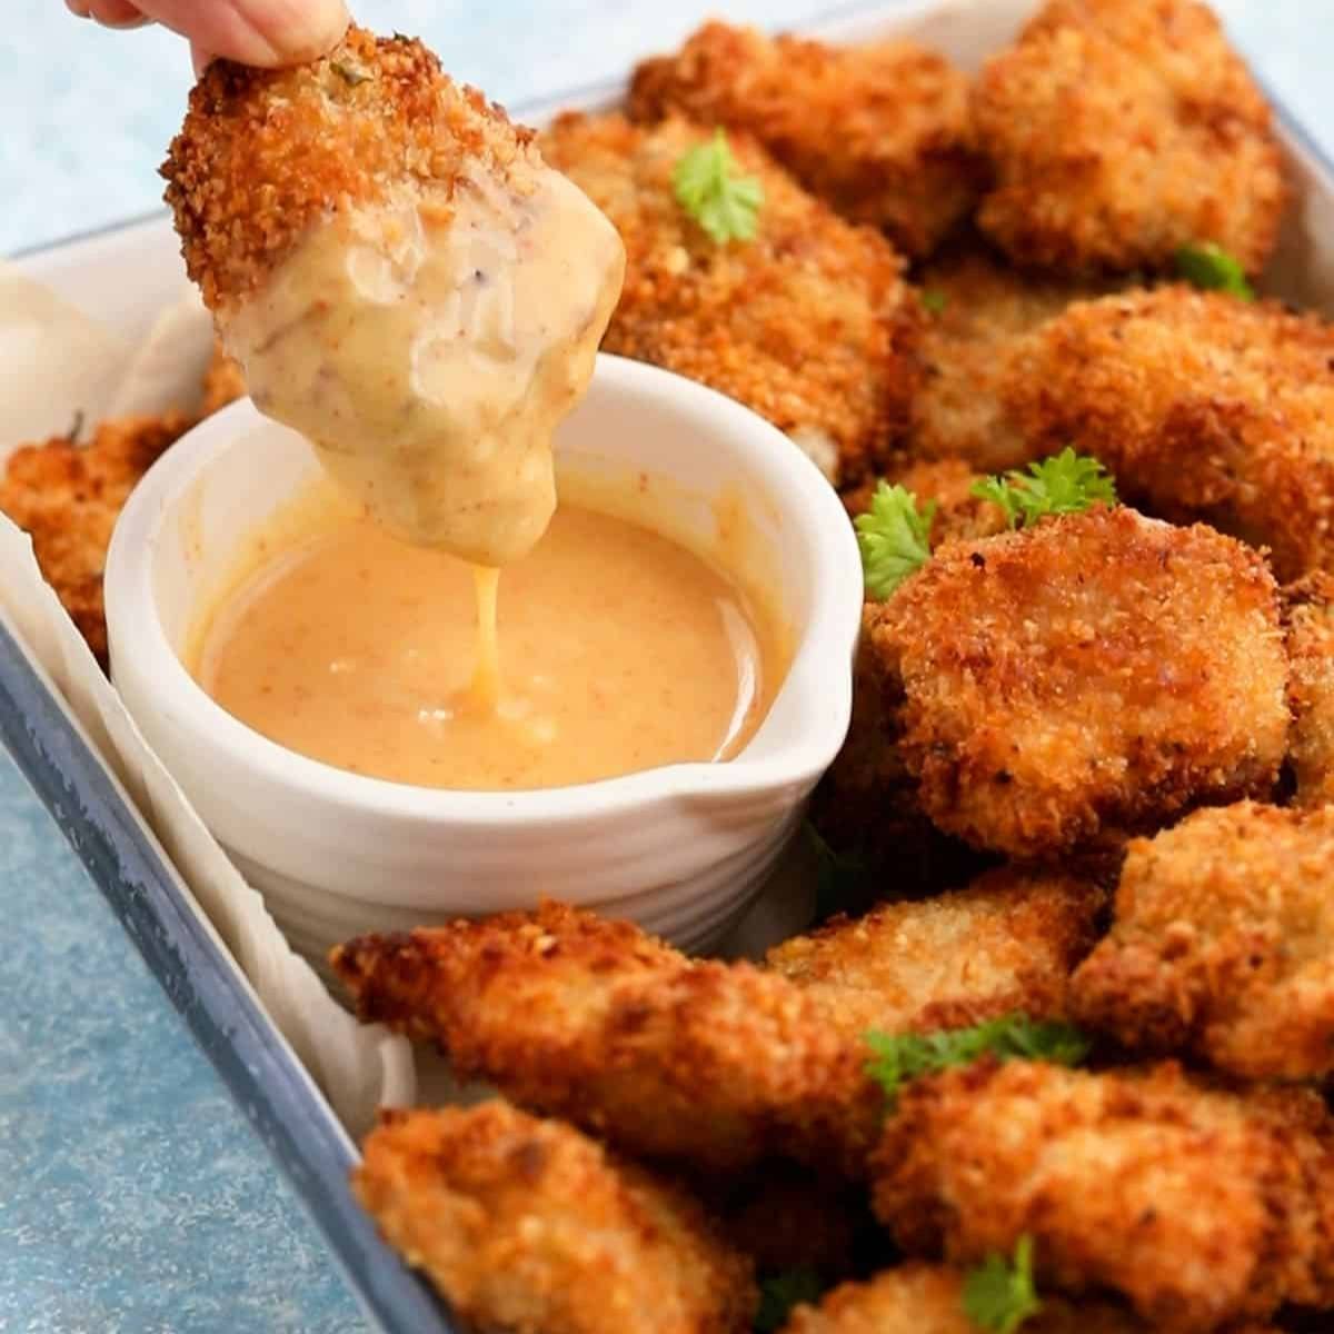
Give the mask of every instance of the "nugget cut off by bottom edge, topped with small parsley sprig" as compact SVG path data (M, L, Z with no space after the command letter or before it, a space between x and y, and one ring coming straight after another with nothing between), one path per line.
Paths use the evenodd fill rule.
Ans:
M799 1306L783 1334L979 1334L963 1307L963 1273L910 1261L866 1283L844 1283L818 1306ZM1023 1334L1154 1334L1137 1315L1105 1302L1043 1297ZM1231 1334L1273 1334L1259 1326Z

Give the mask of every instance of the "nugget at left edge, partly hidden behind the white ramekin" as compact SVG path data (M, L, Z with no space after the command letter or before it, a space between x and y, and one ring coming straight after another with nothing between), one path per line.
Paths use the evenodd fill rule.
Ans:
M139 479L189 427L180 412L103 422L87 444L56 436L20 447L0 480L0 511L32 538L43 575L103 667L111 532Z

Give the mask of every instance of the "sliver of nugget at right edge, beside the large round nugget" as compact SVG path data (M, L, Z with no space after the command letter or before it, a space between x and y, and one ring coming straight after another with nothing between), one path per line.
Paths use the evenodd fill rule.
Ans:
M1321 570L1283 590L1287 763L1298 806L1334 803L1334 574Z

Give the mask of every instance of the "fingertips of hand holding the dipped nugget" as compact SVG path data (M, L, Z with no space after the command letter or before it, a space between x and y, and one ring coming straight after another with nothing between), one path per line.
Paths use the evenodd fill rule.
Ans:
M108 28L160 23L189 37L196 71L213 56L289 65L324 55L347 32L343 0L65 0Z

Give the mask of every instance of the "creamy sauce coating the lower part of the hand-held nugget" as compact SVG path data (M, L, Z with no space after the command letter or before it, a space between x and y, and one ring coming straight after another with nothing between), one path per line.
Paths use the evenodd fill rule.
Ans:
M448 200L350 209L223 324L261 412L388 531L504 566L546 531L551 436L624 275L612 224L536 168Z

